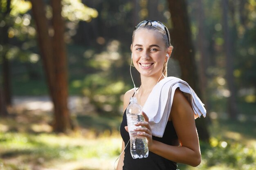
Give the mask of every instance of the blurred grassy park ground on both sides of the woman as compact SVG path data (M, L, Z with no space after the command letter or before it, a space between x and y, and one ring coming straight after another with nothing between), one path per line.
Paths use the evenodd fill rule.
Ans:
M0 170L114 170L121 152L121 116L95 113L85 97L70 97L69 106L76 128L56 134L48 97L15 97L9 116L0 118ZM211 139L200 142L202 163L178 169L255 170L255 117L209 116Z

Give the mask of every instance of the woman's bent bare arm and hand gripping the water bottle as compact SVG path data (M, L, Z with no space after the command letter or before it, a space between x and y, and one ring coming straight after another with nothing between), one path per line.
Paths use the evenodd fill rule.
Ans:
M152 140L148 117L144 116L147 122L139 122L136 126L140 135L148 139L148 148L151 152L160 155L168 160L198 166L201 162L201 153L198 134L195 127L194 113L183 93L177 89L173 97L170 117L176 130L181 146L170 146L159 141ZM145 132L145 133L144 133Z

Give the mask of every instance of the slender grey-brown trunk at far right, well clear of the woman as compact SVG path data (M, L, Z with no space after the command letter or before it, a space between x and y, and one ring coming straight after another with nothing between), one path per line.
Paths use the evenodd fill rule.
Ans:
M226 79L227 86L230 91L230 96L228 97L228 106L227 112L231 119L237 118L237 106L236 106L236 89L234 86L234 76L233 76L233 57L232 54L232 41L228 26L228 12L229 12L229 4L228 0L222 0L222 27L223 27L223 36L224 36L224 52L226 55Z

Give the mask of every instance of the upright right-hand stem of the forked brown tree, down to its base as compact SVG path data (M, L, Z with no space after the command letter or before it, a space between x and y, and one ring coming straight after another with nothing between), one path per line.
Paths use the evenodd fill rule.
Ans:
M61 16L61 0L52 0L52 23L54 28L53 55L55 63L56 108L54 129L66 131L71 129L71 119L67 108L67 61L64 42L65 25Z

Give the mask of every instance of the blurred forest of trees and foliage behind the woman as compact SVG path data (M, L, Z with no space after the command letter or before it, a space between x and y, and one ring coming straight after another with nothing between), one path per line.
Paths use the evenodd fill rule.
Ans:
M15 114L15 97L47 95L54 106L47 121L57 132L76 124L104 130L113 120L119 126L123 94L132 88L132 31L141 20L159 20L168 27L174 46L168 76L186 80L206 104L207 119L196 123L200 139L210 137L216 147L213 153L202 145L214 164L214 155L223 155L218 149L227 142L213 138L220 130L209 133L207 126L238 125L245 128L241 133L255 129L254 0L0 0L0 121ZM134 68L132 75L139 86ZM70 110L67 99L72 96L90 107ZM249 121L254 126L244 126ZM245 136L252 137L249 132ZM248 150L227 148L232 147L227 162L238 159L242 165L239 155ZM248 153L247 161L253 155Z

